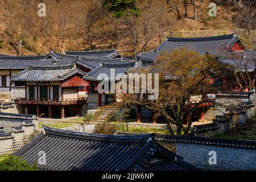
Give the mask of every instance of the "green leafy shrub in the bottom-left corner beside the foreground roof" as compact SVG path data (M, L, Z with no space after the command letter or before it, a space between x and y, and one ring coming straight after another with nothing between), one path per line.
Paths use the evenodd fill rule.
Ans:
M2 156L0 158L0 171L37 171L36 163L27 164L26 160L18 156Z

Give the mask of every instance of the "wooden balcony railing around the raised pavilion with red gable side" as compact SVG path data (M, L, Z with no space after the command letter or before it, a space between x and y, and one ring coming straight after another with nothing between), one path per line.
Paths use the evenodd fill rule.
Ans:
M77 105L86 104L86 98L67 98L67 99L34 99L34 98L16 98L17 104L35 104L35 105Z

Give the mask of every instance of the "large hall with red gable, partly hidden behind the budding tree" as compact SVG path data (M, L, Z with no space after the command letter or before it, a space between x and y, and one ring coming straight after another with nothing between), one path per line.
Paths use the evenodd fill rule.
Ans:
M163 51L172 52L181 47L199 52L202 55L217 56L219 61L225 65L240 67L242 70L246 67L247 71L250 72L251 78L254 78L256 52L247 51L236 34L201 38L174 38L167 36L166 41L159 47L152 51L141 53L139 59L144 63L151 64ZM248 92L247 88L245 90L239 88L232 75L227 73L222 80L216 80L216 86L220 91Z

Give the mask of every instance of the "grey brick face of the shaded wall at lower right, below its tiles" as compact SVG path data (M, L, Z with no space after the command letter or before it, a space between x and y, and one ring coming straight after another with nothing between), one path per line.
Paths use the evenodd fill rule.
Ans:
M217 164L209 164L210 151L216 152ZM201 169L256 170L256 151L252 149L176 143L176 154Z

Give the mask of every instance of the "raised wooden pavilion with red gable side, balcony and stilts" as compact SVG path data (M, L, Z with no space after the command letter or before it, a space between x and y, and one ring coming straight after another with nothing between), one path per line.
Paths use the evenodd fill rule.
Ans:
M15 85L23 85L23 98L16 98L16 104L24 106L24 113L52 115L79 115L86 104L84 86L88 82L82 79L85 72L76 64L32 66L12 77Z

